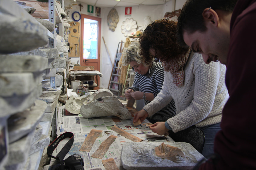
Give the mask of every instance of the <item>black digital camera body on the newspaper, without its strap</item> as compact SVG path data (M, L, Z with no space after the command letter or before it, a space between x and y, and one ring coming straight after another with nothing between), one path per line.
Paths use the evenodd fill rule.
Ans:
M79 154L73 154L64 160L65 170L84 170L83 158Z

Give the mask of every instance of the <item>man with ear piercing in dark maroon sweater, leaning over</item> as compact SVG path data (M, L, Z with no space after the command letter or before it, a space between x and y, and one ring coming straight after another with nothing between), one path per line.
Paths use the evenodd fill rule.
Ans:
M226 64L229 100L214 156L198 169L256 169L256 0L187 0L178 17L180 45L205 63ZM195 168L197 169L197 168Z

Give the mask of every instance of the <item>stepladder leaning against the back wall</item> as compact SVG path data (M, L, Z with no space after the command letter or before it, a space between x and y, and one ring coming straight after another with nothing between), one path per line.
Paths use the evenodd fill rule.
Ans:
M112 91L112 93L116 96L120 96L120 94L122 94L122 85L118 82L118 79L120 77L120 70L118 69L118 62L120 61L121 55L122 55L122 43L124 43L123 41L118 43L117 46L117 52L116 52L116 57L115 57L115 61L112 67L112 72L111 72L111 76L109 79L109 83L108 83L108 89L110 91ZM120 45L121 44L121 45ZM120 50L119 50L119 46L120 46ZM118 52L119 50L119 52Z

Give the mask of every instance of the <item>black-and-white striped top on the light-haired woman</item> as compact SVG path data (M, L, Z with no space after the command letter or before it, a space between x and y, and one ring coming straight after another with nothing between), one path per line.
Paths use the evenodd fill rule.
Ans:
M128 89L133 91L141 91L145 93L153 93L154 97L161 91L164 82L164 68L160 62L153 62L153 65L148 69L148 72L144 75L135 73L133 85ZM144 100L145 105L150 103L148 100ZM176 108L174 100L162 108L160 111L152 115L151 119L157 121L166 121L168 118L176 115Z

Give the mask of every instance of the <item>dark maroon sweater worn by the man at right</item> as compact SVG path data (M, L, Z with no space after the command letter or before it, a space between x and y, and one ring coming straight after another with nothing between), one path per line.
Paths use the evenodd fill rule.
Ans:
M199 169L256 169L256 0L237 1L226 66L229 100L214 141L220 160Z

